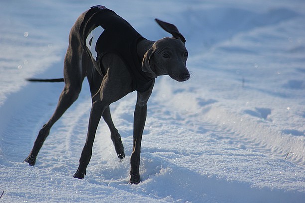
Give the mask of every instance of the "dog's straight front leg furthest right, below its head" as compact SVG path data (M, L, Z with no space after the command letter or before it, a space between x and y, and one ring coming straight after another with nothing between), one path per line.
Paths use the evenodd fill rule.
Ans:
M137 93L137 103L134 112L134 141L133 152L130 158L130 184L140 183L139 165L140 165L140 152L141 140L143 129L146 120L147 101L152 93L153 85L144 93Z

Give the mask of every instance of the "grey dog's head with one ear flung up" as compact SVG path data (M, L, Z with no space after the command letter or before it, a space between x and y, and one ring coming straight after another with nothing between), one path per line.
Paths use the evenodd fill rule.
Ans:
M142 70L153 78L169 75L176 81L186 81L190 75L186 68L188 52L185 48L185 38L175 25L156 19L157 23L173 37L157 40L145 53Z

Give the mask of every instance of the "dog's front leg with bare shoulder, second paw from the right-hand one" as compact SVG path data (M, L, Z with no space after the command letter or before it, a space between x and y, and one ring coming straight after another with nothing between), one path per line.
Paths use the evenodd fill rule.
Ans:
M74 178L82 179L86 175L86 168L92 155L95 133L105 109L109 110L108 107L111 103L121 99L130 93L132 89L130 86L132 81L128 69L125 68L124 62L119 56L105 55L103 62L103 66L109 68L107 68L107 73L103 78L100 89L92 97L86 144L79 159L79 167L74 174Z

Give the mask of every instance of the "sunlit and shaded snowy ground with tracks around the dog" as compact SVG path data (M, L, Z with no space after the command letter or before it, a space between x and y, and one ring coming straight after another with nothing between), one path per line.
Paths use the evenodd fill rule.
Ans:
M22 161L53 113L69 29L103 4L144 37L175 24L189 50L189 81L156 81L148 104L139 185L128 184L101 122L83 180L87 82L51 130L35 167ZM0 6L0 202L304 203L304 0L14 0ZM111 106L131 154L135 93Z

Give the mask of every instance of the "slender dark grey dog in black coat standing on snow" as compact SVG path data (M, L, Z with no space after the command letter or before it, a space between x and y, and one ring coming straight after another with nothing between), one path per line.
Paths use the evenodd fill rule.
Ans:
M147 101L155 78L169 75L179 82L190 78L186 68L188 52L185 38L175 25L155 20L172 37L157 41L147 40L127 21L104 6L93 6L78 17L69 35L69 46L64 59L64 78L49 80L64 81L64 89L54 114L39 131L25 162L35 165L38 152L51 127L78 98L82 82L87 77L92 107L86 143L74 177L83 179L86 175L101 117L110 129L118 158L122 160L125 157L121 136L113 124L109 105L128 93L137 91L130 184L140 183L141 139L147 115Z

